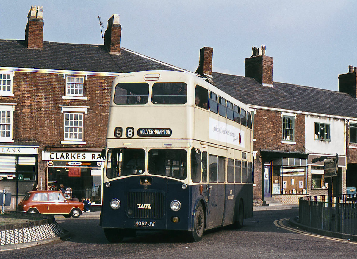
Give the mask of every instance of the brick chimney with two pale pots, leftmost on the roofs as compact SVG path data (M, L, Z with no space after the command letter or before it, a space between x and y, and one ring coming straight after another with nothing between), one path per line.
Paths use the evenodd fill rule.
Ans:
M44 19L42 6L32 5L27 15L28 21L25 29L25 41L28 49L43 49Z

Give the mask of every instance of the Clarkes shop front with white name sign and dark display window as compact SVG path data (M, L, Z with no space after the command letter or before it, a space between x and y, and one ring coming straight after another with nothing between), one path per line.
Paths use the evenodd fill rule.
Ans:
M60 190L67 199L90 199L92 205L102 203L104 159L101 148L86 150L46 148L42 160L47 161L46 188Z

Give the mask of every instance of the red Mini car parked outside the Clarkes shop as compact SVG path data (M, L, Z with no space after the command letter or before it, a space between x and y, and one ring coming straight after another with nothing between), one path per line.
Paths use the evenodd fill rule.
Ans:
M78 218L83 212L83 206L83 202L67 200L61 191L29 191L20 201L17 210Z

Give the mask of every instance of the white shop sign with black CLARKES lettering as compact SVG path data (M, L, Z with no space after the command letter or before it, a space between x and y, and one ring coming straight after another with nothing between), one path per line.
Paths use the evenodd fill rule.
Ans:
M104 161L98 152L47 152L42 151L45 161Z

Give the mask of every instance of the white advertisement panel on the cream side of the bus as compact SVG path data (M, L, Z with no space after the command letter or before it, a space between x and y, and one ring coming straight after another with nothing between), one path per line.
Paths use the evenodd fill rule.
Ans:
M210 118L209 137L213 140L218 140L230 143L236 146L244 147L244 131L229 125L225 122L217 121Z

